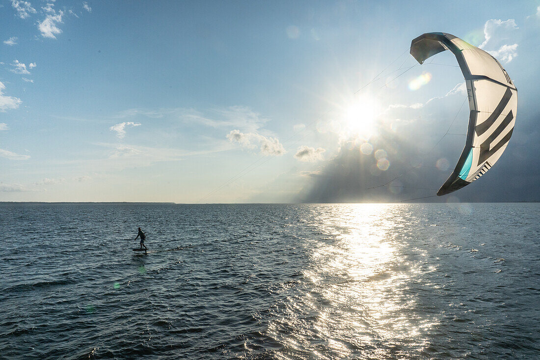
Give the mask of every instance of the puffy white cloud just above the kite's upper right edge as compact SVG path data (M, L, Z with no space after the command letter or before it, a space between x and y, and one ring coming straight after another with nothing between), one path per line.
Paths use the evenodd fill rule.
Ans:
M517 29L514 19L490 19L484 24L484 42L478 47L499 61L509 63L517 56L517 43L511 44Z

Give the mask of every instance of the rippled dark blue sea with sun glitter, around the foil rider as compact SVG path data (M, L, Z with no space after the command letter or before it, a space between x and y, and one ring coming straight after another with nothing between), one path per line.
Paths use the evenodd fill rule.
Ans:
M0 205L0 358L538 359L539 224L524 203Z

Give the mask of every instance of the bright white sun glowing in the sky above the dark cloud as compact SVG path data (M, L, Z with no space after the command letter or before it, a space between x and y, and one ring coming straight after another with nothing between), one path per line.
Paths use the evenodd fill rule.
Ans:
M381 113L379 102L366 95L358 96L343 106L341 123L343 135L369 139L376 132Z

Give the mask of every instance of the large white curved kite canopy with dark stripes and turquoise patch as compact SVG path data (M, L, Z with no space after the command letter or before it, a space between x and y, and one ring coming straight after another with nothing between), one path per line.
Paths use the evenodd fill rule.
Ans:
M497 59L484 50L444 32L428 32L410 45L410 54L420 64L445 50L453 52L460 65L470 115L465 147L438 196L469 185L491 169L508 145L517 114L516 86Z

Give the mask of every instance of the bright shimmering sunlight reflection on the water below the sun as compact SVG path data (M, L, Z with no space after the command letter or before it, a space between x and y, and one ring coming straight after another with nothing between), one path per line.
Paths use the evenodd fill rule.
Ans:
M411 290L425 270L401 254L395 235L406 221L395 206L329 205L316 217L312 225L322 237L312 239L305 294L288 297L281 321L296 331L278 335L289 349L281 355L409 358L427 346L422 334L437 321Z

